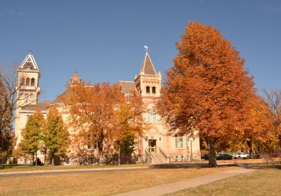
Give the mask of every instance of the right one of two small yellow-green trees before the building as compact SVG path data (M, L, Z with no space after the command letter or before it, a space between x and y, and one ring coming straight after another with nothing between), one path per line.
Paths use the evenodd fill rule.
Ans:
M70 144L69 133L63 123L63 118L55 107L51 107L48 111L43 141L44 148L50 153L51 165L54 165L54 157L63 155Z

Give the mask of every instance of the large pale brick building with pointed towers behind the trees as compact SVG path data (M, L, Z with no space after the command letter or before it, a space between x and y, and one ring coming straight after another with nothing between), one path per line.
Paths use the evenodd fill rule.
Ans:
M70 114L65 111L63 107L64 102L61 99L61 97L67 95L67 90L53 101L39 103L39 78L39 66L30 52L18 68L19 91L21 94L25 94L27 102L19 102L18 104L21 107L16 111L15 135L17 137L17 145L22 139L21 131L25 128L28 117L36 109L40 109L41 113L46 117L50 106L56 106L63 116L64 122L69 123L68 117ZM81 80L77 71L75 71L72 78L70 78L70 83L79 83ZM167 126L162 123L161 116L157 113L155 101L160 96L162 75L160 71L155 71L155 66L152 64L148 51L145 52L143 64L138 75L135 76L135 80L119 81L117 84L122 87L124 94L129 94L131 90L136 90L143 100L145 107L143 123L149 123L150 126L147 130L143 131L143 137L138 146L136 146L136 154L140 155L143 158L142 160L152 163L163 163L188 162L191 158L200 158L199 138L191 139L188 135L177 136L176 134L169 134ZM68 128L68 132L71 139L74 139L79 134L79 130L74 130L72 127ZM77 146L70 145L65 164L83 163L85 158L86 162L95 162L97 157L95 146L75 145ZM39 158L43 159L42 156L39 156Z

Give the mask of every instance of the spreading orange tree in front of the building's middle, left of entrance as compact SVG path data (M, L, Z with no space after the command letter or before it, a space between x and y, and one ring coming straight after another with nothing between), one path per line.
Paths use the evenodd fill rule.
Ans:
M85 145L98 144L99 162L104 162L105 146L119 138L120 127L131 123L141 114L133 108L136 102L126 104L119 85L109 83L76 83L68 87L70 96L66 106L70 110L73 127L81 130ZM105 142L106 141L106 142Z

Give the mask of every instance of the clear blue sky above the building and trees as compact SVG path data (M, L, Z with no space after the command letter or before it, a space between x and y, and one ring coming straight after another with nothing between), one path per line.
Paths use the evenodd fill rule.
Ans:
M259 89L281 89L281 1L0 0L0 62L39 65L40 100L53 100L77 69L91 83L134 80L145 49L157 71L173 65L188 21L232 41Z

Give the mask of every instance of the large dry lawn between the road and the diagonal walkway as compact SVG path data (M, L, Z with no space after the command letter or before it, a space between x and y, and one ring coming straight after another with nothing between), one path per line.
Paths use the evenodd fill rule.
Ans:
M237 167L189 167L126 172L11 176L0 179L0 195L112 195L235 168Z

